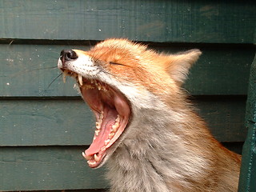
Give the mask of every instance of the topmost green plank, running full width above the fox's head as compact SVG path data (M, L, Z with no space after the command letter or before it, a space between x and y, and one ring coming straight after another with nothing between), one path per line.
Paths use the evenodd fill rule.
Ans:
M1 0L0 38L253 43L255 1Z

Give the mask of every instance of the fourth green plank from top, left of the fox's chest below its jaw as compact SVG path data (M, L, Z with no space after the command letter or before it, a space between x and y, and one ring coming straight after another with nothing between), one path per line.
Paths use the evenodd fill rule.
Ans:
M107 187L104 168L92 170L82 147L1 147L0 191Z

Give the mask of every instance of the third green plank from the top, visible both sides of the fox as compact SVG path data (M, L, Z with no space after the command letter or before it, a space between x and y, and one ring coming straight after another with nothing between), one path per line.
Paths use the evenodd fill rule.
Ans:
M199 98L198 113L221 142L243 142L246 98ZM90 145L94 117L78 100L0 100L0 146Z

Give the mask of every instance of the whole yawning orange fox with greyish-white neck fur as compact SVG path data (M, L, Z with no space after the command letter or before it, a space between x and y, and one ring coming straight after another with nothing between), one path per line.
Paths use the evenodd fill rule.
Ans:
M111 192L238 190L241 155L214 138L182 88L201 54L159 53L125 38L62 50L58 68L95 116L82 156L93 169L106 163Z

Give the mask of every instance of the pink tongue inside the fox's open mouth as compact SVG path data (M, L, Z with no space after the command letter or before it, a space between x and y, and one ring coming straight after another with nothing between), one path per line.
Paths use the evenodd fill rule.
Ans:
M86 155L91 156L97 154L108 139L112 126L115 123L118 113L115 110L104 111L104 118L101 126L101 130L96 136L95 140L90 144L90 147L86 150Z

